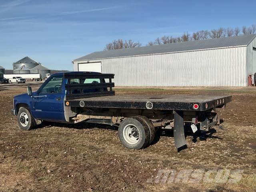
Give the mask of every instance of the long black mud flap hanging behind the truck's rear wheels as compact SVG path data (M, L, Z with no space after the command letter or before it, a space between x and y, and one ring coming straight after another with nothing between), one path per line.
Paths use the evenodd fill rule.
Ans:
M179 151L179 148L186 148L187 142L184 134L184 121L183 111L174 111L174 143L175 147Z

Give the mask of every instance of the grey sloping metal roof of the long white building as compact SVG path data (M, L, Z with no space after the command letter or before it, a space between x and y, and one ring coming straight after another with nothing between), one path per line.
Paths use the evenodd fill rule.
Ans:
M145 47L138 47L138 48L98 51L98 52L93 52L86 56L77 58L74 61L137 56L137 55L146 55L146 54L183 52L183 51L203 50L203 49L223 48L223 47L233 47L233 46L247 46L248 44L250 44L250 42L252 42L254 38L256 38L256 35L252 34L252 35L243 35L243 36L232 36L232 37L224 37L224 38L179 42L179 43L172 43L172 44L145 46Z

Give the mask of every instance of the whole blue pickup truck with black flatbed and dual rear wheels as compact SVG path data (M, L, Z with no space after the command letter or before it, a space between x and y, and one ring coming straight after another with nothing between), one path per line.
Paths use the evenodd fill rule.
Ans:
M32 92L14 96L13 113L23 130L42 121L90 122L118 126L122 144L142 149L154 140L156 129L173 129L176 148L186 146L184 127L209 132L220 122L216 108L231 96L115 95L114 74L64 72L50 76ZM85 124L86 126L86 124Z

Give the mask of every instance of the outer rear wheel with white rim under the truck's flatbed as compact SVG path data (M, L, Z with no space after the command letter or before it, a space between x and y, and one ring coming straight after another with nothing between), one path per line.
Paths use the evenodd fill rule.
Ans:
M150 132L141 118L131 117L120 123L118 137L126 148L138 150L148 145Z

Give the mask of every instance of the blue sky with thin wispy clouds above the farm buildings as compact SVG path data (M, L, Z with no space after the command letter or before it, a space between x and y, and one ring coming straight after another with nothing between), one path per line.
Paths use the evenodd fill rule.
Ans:
M0 0L0 66L29 56L55 70L114 39L256 24L256 0Z

